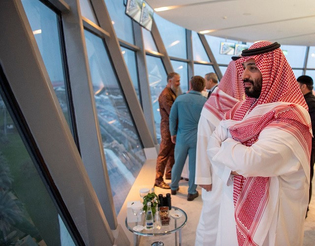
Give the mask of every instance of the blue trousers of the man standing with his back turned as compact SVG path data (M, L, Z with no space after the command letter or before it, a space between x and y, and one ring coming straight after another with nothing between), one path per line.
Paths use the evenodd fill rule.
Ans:
M181 180L181 175L185 165L187 155L189 155L189 188L188 193L196 193L197 185L195 184L195 171L196 171L196 142L183 143L176 141L175 144L175 163L172 168L172 183L171 189L177 190L178 183Z

